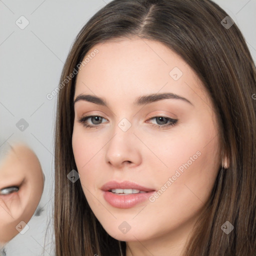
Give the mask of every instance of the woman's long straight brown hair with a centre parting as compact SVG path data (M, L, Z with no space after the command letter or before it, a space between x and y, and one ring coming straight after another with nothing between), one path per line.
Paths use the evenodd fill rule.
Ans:
M210 0L113 0L81 29L58 87L54 198L57 256L121 255L121 250L125 255L125 242L112 238L102 228L79 179L72 183L67 178L72 169L77 170L71 144L76 75L66 77L96 43L130 36L162 42L196 72L214 103L222 152L229 159L229 167L218 170L184 255L256 255L256 100L252 96L256 93L256 71L236 24L224 25L226 16ZM221 230L225 221L234 226L229 234Z

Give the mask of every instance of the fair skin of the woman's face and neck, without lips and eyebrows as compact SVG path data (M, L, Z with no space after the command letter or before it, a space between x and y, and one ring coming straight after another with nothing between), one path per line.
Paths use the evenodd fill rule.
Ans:
M74 103L72 147L85 197L107 233L126 241L127 256L181 255L225 163L212 102L188 64L160 42L119 38L94 45L88 54L95 48L98 53L78 72L74 95L91 94L107 102ZM174 67L183 73L177 80L169 75ZM141 95L164 92L190 103L165 98L133 104ZM102 119L78 121L89 115ZM177 121L158 127L171 121L155 116ZM131 124L126 131L118 126L123 118ZM189 166L166 186L184 163ZM119 208L100 189L110 180L129 180L155 191L165 184L165 190L153 202ZM118 228L123 221L130 226L126 233Z

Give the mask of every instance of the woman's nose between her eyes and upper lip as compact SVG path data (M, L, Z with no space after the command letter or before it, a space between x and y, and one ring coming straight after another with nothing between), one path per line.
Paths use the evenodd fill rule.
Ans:
M113 136L106 146L105 160L116 168L136 166L141 162L140 144L133 134L132 127L123 131L116 125Z

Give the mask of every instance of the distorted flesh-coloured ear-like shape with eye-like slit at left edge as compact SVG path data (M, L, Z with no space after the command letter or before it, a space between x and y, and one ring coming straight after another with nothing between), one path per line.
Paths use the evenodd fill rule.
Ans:
M40 201L43 185L34 152L23 144L12 146L0 165L0 245L22 234Z

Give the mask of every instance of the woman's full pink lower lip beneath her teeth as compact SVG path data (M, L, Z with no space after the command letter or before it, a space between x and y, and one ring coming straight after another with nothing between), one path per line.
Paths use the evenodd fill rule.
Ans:
M114 194L109 191L103 191L104 199L116 208L131 208L134 205L145 201L150 195L155 191L150 191L146 193L136 193L136 194Z

